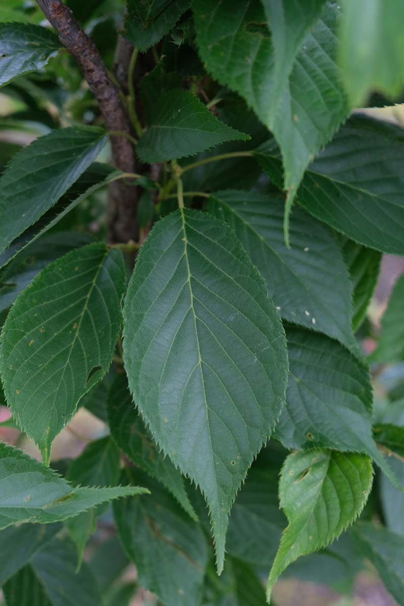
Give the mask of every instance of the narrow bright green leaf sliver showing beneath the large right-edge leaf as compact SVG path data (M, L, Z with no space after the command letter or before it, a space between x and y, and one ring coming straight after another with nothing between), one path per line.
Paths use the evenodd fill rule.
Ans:
M342 235L339 244L353 284L352 326L356 331L365 319L366 310L376 288L382 254Z

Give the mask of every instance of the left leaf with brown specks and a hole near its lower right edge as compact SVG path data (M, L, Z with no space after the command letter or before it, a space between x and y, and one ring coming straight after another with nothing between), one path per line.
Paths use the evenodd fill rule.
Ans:
M121 251L89 244L45 267L8 314L0 359L4 393L45 462L79 399L111 364L124 284Z

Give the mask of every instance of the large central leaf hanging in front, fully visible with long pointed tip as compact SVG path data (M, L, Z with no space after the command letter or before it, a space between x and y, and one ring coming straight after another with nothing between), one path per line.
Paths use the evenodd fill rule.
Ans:
M207 499L221 571L228 513L287 373L279 316L230 227L188 209L155 225L125 299L124 360L154 439Z

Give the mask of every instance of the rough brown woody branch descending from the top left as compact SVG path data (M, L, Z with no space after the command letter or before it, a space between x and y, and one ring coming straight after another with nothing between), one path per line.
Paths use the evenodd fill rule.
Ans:
M107 131L130 133L130 122L118 88L111 82L96 45L82 30L70 8L61 0L36 1L58 32L61 44L68 48L82 68L84 78L98 101ZM111 150L113 164L125 172L133 173L134 153L131 142L122 136L111 136ZM108 208L111 242L127 242L137 238L136 207L136 187L122 181L111 185Z

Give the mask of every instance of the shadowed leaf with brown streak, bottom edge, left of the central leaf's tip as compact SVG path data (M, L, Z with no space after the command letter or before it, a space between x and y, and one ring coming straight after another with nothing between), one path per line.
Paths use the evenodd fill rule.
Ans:
M136 564L138 582L156 593L165 606L200 604L207 541L200 526L178 507L156 481L136 472L151 496L125 499L114 506L119 536L130 559Z

